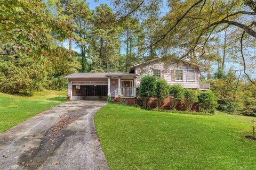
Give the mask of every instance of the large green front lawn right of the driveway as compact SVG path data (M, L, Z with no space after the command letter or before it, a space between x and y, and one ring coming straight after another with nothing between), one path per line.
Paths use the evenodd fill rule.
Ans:
M110 169L255 169L251 119L108 104L95 124Z

